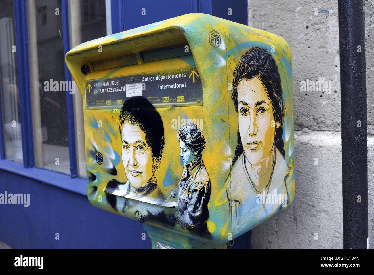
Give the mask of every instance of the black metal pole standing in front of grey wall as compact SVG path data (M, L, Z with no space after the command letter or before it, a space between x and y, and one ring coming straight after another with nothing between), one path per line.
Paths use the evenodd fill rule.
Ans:
M368 239L368 147L363 0L339 0L343 248Z

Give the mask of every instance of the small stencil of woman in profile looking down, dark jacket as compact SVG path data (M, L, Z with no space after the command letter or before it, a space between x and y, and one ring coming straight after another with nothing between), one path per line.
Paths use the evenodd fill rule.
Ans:
M207 232L211 181L202 159L206 141L199 127L190 123L178 131L183 172L178 183L179 223L190 231Z

